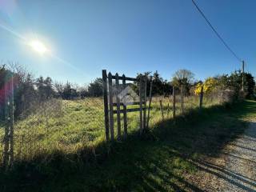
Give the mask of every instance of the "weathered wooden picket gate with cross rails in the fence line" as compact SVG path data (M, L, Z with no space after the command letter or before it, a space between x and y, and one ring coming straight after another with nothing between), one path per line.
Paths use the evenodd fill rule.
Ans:
M148 126L150 106L146 106L146 85L148 79L144 76L141 78L128 78L124 74L119 76L118 74L112 75L106 74L106 70L102 70L103 80L103 95L104 95L104 114L105 114L105 129L106 140L113 141L114 134L114 114L117 115L117 138L121 139L121 114L123 116L123 138L127 137L127 113L139 111L139 131L140 134ZM114 83L113 83L114 80ZM122 80L122 84L119 81ZM139 93L138 101L127 100L127 93L132 92L131 88L127 86L126 81L138 82ZM150 83L150 100L151 100L151 87ZM130 96L129 96L130 97ZM127 106L138 106L136 108L127 109ZM146 117L146 109L148 109L148 117Z

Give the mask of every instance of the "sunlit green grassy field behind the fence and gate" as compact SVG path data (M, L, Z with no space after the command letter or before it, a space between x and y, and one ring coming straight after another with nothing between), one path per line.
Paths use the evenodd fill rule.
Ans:
M162 100L164 118L162 118L160 100ZM179 100L177 97L177 114L180 113ZM185 98L184 102L186 111L198 107L197 96ZM218 99L204 98L205 107L218 103ZM163 120L172 118L171 98L155 97L151 106L151 128ZM82 150L85 146L90 149L94 148L105 139L102 98L74 101L53 99L37 104L30 110L33 112L28 116L21 117L14 124L15 161L29 161L42 154L50 155L56 150L64 154L72 154ZM138 127L138 112L129 113L129 133L136 132ZM2 138L4 129L2 128L0 131ZM2 151L2 146L0 151Z

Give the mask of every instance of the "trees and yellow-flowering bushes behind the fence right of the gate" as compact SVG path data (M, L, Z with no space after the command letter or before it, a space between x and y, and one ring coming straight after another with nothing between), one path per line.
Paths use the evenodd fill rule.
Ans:
M197 87L204 86L204 93L209 94L213 91L224 91L232 90L234 92L234 99L238 99L241 96L243 98L256 98L255 81L252 74L249 72L242 73L241 70L234 70L230 74L216 75L214 77L206 78L204 82L201 80L197 81L194 79L194 73L190 70L182 69L177 70L172 77L170 82L163 80L158 71L153 74L151 72L145 72L138 74L137 78L145 77L148 80L152 80L152 94L153 95L170 95L172 94L173 87L180 91L183 87L184 94L197 94ZM243 90L242 90L242 77L244 78ZM147 87L150 86L148 81ZM138 84L134 83L134 90L138 91ZM194 90L194 91L191 91ZM149 89L147 90L149 92Z

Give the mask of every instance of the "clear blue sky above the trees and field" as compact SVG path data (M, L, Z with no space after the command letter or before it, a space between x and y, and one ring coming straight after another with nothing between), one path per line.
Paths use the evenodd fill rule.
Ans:
M256 74L256 1L197 0L219 34ZM40 55L26 41L50 50ZM190 0L0 0L0 61L35 76L83 84L102 69L135 76L178 69L204 79L241 63L216 38Z

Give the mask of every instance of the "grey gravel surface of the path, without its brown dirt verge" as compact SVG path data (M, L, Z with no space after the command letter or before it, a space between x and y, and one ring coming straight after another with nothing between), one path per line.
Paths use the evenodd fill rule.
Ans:
M256 122L229 149L223 191L256 191Z

